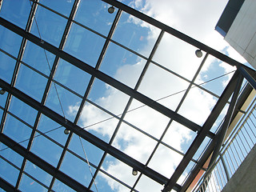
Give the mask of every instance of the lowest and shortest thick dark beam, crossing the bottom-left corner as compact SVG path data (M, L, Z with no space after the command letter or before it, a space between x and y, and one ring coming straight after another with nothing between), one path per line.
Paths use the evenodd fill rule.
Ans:
M42 158L39 158L30 151L27 151L25 147L19 145L17 142L14 142L14 140L8 138L5 134L0 134L0 141L30 162L33 162L34 165L40 167L42 170L45 170L48 174L55 176L59 181L65 183L67 186L70 186L72 189L81 192L92 191L88 190L86 186L83 186L81 183L75 181L74 178L70 178L68 175L62 173L62 171L56 170L54 166L50 165L48 162L44 161Z

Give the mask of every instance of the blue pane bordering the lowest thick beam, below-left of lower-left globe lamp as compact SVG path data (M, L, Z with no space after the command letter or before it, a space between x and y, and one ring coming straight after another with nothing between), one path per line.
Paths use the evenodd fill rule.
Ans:
M53 166L57 166L58 160L62 154L62 148L54 142L51 142L49 139L43 136L38 136L34 138L31 152L37 154Z

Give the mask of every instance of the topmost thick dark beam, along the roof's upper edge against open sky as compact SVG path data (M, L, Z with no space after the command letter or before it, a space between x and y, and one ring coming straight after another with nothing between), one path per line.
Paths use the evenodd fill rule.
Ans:
M172 28L170 26L166 26L162 22L158 22L156 19L150 18L146 14L142 14L141 12L139 12L138 10L134 10L130 6L126 6L126 5L122 4L122 2L118 2L116 0L102 0L102 1L109 3L110 5L115 6L118 9L124 10L128 14L134 15L136 18L139 18L144 22L148 22L151 25L156 26L159 29L166 31L169 34L174 35L174 37L179 38L182 41L187 42L192 46L198 47L198 49L200 49L200 50L206 51L206 53L209 53L209 54L213 55L215 58L222 60L222 62L226 62L226 63L230 64L231 66L242 65L242 63L237 62L233 58L230 58L230 57L226 56L225 54L218 52L218 50L214 50L210 46L206 46L202 42L198 42L194 38L190 38L188 35L183 34L182 32L175 30L174 28Z

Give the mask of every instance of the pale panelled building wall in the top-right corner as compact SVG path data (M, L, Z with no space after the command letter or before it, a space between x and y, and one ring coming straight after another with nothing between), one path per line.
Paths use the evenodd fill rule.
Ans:
M246 0L242 4L224 39L256 69L255 0Z

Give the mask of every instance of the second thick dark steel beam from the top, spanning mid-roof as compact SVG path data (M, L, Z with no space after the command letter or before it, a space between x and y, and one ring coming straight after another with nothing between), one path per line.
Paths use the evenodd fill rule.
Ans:
M174 121L182 124L183 126L186 126L190 130L200 131L202 129L202 127L198 124L190 121L187 118L184 118L180 114L175 113L173 110L168 109L166 106L162 106L158 102L155 102L153 99L146 97L144 94L141 94L138 91L130 88L129 86L126 86L122 82L118 82L116 79L111 78L110 76L102 73L101 71L94 69L94 67L80 61L78 58L75 58L70 54L67 54L63 50L59 50L57 47L52 46L50 43L42 41L42 39L26 32L25 30L22 30L22 28L15 26L11 22L6 21L6 19L0 18L0 24L2 26L5 26L7 29L13 31L14 33L22 36L23 38L28 39L30 42L34 42L34 44L41 46L45 50L48 50L50 53L57 55L66 62L70 62L74 66L77 66L79 69L86 71L87 73L95 76L103 82L106 82L110 86L113 86L114 88L122 91L123 93L130 95L130 97L137 99L139 102L150 106L152 109L157 110L159 113L166 115L166 117L174 119Z

